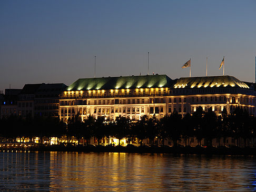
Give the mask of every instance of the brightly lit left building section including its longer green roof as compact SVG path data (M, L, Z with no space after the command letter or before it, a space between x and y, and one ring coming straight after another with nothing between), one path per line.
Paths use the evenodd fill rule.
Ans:
M166 75L102 77L78 79L68 86L60 98L60 117L66 121L76 114L114 120L125 116L139 120L141 116L166 114L166 96L174 81Z

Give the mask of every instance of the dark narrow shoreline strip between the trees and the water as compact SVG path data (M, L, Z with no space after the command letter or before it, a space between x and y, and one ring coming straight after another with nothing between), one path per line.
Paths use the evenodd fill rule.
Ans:
M202 155L256 155L249 147L121 147L121 146L40 146L30 148L0 148L0 151L62 151L85 153L151 153L151 154L202 154Z

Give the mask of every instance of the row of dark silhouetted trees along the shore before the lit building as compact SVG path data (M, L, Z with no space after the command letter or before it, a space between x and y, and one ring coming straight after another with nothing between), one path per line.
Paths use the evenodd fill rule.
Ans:
M207 150L213 147L213 139L218 141L215 147L221 147L221 140L223 140L223 146L225 146L225 138L233 139L233 148L255 148L256 146L256 117L239 107L232 114L227 114L227 111L223 110L220 116L217 116L211 109L204 112L202 107L199 107L192 115L186 114L184 117L178 113L164 116L160 120L143 116L137 122L131 122L130 119L122 116L116 117L113 122L106 122L104 117L94 119L89 116L82 122L79 116L75 116L69 118L66 124L59 118L31 118L28 116L22 119L17 116L10 116L0 120L0 127L0 143L2 143L0 148L2 149L3 147L6 148L7 144L8 147L10 147L9 144L12 144L11 146L18 146L19 144L18 147L22 147L22 143L24 144L27 138L29 139L27 147L30 144L30 148L38 149L41 147L42 150L53 150L53 147L56 150L63 150L63 147L71 147L70 150L72 151L82 150L81 147L85 146L88 149L88 146L91 146L90 150L104 151L105 149L102 149L102 147L101 149L93 149L94 146L90 142L92 138L97 140L97 146L105 145L105 139L116 138L119 141L117 144L119 146L121 145L120 141L125 139L128 144L126 148L133 148L132 144L137 143L139 146L144 146L140 150L147 150L145 145L149 145L147 148L155 148L154 150L148 149L152 151L156 149L160 151L160 146L162 148L170 148L170 146L175 148L161 149L162 151L176 151L176 149L182 147L188 148L192 138L197 140L198 147L203 146L208 148ZM33 138L38 138L38 144L35 144ZM52 138L57 138L57 143L50 149ZM66 143L61 142L61 138L66 138ZM18 144L17 139L19 140ZM47 140L48 142L45 142ZM72 146L71 141L74 140L76 140L76 143L75 146ZM170 142L166 143L166 140L171 140L172 145L170 145ZM181 140L184 141L182 147L179 146ZM202 140L204 141L203 144ZM243 145L241 145L241 141ZM108 150L113 148L110 141L107 144L110 145ZM47 145L48 147L45 147ZM121 150L121 147L119 148ZM117 148L111 150L117 150ZM131 149L122 148L121 151L125 150L129 151Z

